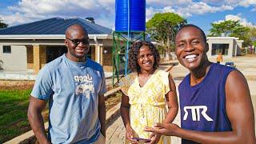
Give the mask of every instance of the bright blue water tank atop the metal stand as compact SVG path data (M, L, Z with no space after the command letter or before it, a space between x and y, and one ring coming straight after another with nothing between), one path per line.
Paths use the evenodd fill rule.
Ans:
M130 32L146 30L146 0L115 1L115 31L128 32L128 1L130 2Z

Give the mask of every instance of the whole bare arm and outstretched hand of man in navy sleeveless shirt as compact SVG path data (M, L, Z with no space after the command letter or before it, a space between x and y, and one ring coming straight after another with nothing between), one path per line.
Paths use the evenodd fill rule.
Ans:
M254 110L250 99L250 90L246 78L237 70L232 71L226 80L226 113L230 119L232 131L201 132L184 130L175 124L158 124L146 131L174 135L200 143L252 143L255 140Z

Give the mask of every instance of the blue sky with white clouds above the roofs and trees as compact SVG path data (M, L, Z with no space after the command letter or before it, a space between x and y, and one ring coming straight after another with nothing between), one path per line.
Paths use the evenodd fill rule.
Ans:
M256 26L256 0L146 0L146 21L173 12L209 34L211 23L239 20ZM46 18L93 17L114 30L115 0L0 0L0 18L9 26Z

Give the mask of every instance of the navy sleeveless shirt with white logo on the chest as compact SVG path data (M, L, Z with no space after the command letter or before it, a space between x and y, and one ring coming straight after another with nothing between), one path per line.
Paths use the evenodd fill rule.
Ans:
M178 86L181 126L186 130L230 131L226 115L226 78L234 68L212 63L206 77L190 86L190 74ZM196 143L182 139L182 143Z

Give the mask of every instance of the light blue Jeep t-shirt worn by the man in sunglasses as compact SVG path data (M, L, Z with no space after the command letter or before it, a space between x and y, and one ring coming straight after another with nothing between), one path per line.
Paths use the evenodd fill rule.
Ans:
M39 71L31 96L49 100L52 143L91 143L98 139L98 95L106 92L102 66L86 58L72 62L66 55Z

